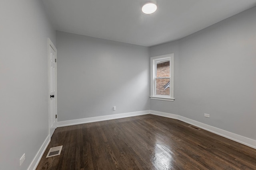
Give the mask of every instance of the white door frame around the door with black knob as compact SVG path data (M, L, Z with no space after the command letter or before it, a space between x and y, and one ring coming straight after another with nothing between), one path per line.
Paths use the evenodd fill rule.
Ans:
M51 131L50 131L50 129L51 129L51 126L50 126L50 121L51 121L51 115L50 115L50 102L51 102L51 98L50 98L50 53L51 53L51 51L50 51L50 48L52 48L54 51L55 51L55 53L56 53L56 56L55 56L55 58L57 59L57 49L56 49L56 47L54 46L54 44L52 43L52 41L50 40L50 38L48 38L48 55L47 55L47 57L48 57L48 130L49 130L49 136L50 136L50 139L51 139ZM56 76L55 76L55 96L54 96L54 98L55 98L55 100L56 100L56 103L55 103L55 114L57 115L57 63L55 64L55 72L56 72ZM57 117L58 118L58 117ZM57 128L57 118L55 119L55 122L56 122L56 128ZM55 129L56 129L55 128Z

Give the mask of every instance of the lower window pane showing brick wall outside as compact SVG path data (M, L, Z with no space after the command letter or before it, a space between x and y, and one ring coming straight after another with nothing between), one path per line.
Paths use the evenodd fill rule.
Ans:
M170 78L156 78L156 95L170 95Z

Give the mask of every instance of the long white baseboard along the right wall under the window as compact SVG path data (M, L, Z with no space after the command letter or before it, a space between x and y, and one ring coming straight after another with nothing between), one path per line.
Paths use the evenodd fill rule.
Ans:
M252 147L252 148L256 149L256 141L255 140L247 138L247 137L243 137L241 135L237 135L235 133L231 133L231 132L228 132L228 131L225 131L222 129L219 129L217 127L206 125L204 123L201 123L201 122L198 122L198 121L195 121L192 119L188 119L188 118L180 116L180 115L171 114L171 113L164 113L164 112L160 112L160 111L150 110L150 114L158 115L158 116L162 116L162 117L168 117L168 118L172 118L172 119L177 119L177 120L183 121L185 123L188 123L190 125L200 127L201 129L215 133L217 135L220 135L220 136L230 139L232 141L236 141L238 143L242 143L243 145L246 145L248 147Z

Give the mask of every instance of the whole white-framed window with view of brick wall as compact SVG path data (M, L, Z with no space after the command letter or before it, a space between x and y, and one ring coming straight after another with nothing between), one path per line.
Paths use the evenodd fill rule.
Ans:
M151 57L150 99L174 101L174 54Z

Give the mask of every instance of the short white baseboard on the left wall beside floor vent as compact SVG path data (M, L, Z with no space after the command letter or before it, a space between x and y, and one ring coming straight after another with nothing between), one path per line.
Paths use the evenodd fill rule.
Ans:
M49 143L50 143L51 139L50 139L50 135L48 135L46 137L46 139L44 140L43 145L40 147L40 149L38 150L38 152L36 153L36 156L34 157L34 159L32 160L31 164L28 167L28 170L35 170L36 167L38 166L39 161L41 160L44 151L46 150L46 148L48 147Z

